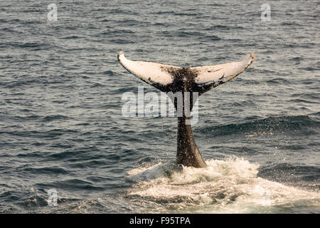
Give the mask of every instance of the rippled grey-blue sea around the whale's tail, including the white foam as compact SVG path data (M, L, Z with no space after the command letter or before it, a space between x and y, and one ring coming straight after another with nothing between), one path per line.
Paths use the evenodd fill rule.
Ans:
M319 213L319 1L267 1L270 21L262 4L0 1L0 212ZM122 115L125 92L160 93L119 51L185 67L255 53L199 99L207 168L174 164L176 118Z

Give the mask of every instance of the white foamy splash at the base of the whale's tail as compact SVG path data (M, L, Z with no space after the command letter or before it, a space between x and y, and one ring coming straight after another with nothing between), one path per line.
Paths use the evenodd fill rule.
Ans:
M158 163L128 172L137 181L129 196L159 202L159 207L179 212L252 212L302 200L320 201L319 192L288 187L257 177L259 165L238 157L206 161L208 167L183 167Z

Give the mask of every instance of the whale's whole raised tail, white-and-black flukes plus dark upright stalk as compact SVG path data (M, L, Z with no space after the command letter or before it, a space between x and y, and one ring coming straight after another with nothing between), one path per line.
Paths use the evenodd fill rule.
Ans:
M118 53L118 60L122 66L151 86L166 93L198 92L199 95L235 78L245 71L254 59L255 54L251 53L239 62L183 68L162 63L131 61L124 56L122 51ZM184 110L185 96L182 95L182 98ZM177 108L175 100L172 101ZM193 104L188 104L191 110ZM178 117L176 162L186 166L206 167L206 162L201 157L193 138L191 125L186 124L186 120L190 120L190 117L185 113Z

